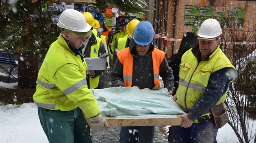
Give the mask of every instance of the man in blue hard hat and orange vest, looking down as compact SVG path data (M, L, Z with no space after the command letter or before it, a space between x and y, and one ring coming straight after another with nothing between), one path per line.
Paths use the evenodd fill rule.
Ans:
M117 52L117 60L111 71L114 87L137 86L140 89L160 89L159 76L171 95L174 77L165 53L154 46L154 29L148 21L141 21L133 30L128 48ZM129 131L136 131L131 134ZM152 143L154 126L124 126L120 128L120 143Z

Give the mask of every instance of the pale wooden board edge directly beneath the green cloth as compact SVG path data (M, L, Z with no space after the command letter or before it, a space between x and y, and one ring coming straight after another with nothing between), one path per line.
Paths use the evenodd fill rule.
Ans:
M108 126L180 126L178 117L105 118Z

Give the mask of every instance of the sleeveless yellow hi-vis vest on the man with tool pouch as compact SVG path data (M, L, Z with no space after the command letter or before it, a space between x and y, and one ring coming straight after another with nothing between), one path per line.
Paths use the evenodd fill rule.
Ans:
M212 73L225 67L234 68L219 46L213 54L210 55L207 61L200 61L199 63L191 50L192 48L182 56L179 72L180 80L176 93L178 103L180 103L180 105L185 109L189 110L205 93L208 80ZM221 97L216 105L219 105L221 102L226 100L226 93ZM203 114L202 116L206 114ZM198 122L198 120L195 120L194 122Z

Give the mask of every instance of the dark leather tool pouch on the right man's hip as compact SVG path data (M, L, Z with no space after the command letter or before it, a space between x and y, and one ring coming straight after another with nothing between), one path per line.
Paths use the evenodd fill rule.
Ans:
M213 114L213 118L217 128L223 127L229 121L228 115L223 103L216 105L213 108L210 108L210 112L211 114Z

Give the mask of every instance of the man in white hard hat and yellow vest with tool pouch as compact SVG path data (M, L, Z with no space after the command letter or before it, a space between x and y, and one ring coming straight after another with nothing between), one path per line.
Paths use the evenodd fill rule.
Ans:
M205 20L197 31L199 44L182 56L174 100L187 114L178 115L181 126L171 126L169 143L217 143L218 128L228 122L223 102L236 69L219 47L221 34L216 19Z

